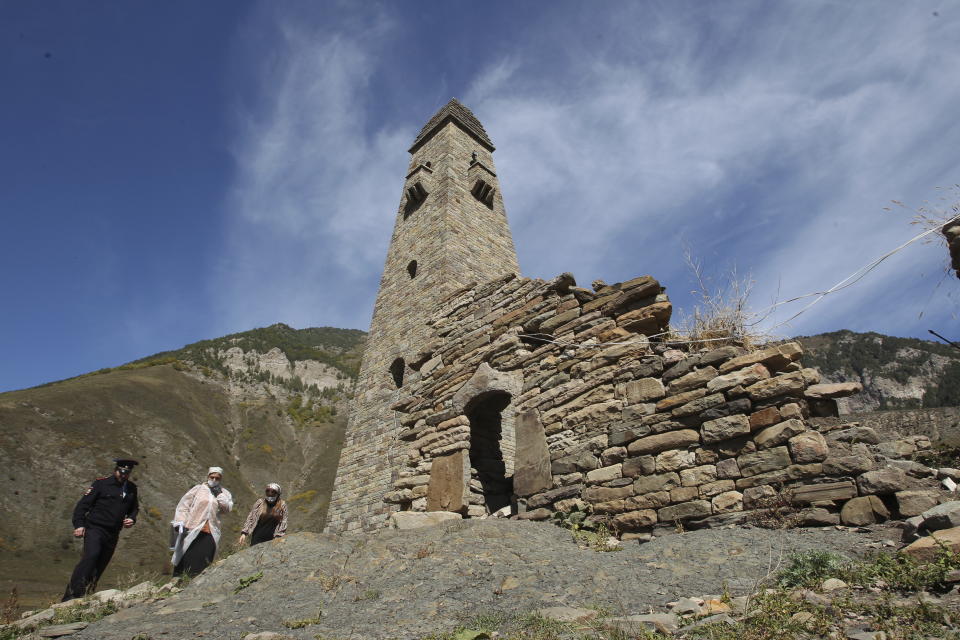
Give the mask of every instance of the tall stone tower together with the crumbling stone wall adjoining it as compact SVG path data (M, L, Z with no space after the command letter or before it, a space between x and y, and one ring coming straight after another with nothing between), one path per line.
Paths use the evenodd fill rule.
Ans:
M927 437L815 424L859 385L820 384L799 344L672 344L650 276L520 277L492 151L455 100L411 148L329 530L580 509L643 537L771 505L864 524L937 503L938 472L909 460Z

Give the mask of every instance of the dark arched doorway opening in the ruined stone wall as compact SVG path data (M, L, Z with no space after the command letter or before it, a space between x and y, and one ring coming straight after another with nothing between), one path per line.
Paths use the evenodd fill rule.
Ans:
M505 391L488 391L464 411L470 420L470 502L483 504L487 513L510 505L513 495L513 429L505 429L503 415L510 400Z

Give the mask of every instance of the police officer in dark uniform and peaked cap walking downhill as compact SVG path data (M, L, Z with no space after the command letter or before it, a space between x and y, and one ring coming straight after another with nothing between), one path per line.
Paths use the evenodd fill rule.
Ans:
M96 589L120 539L120 530L137 521L137 485L130 482L136 460L114 459L113 475L93 481L73 510L73 535L83 538L83 557L70 576L63 600L82 598Z

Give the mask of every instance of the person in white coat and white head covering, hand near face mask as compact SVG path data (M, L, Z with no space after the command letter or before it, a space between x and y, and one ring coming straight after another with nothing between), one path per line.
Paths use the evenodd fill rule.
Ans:
M210 467L207 481L187 491L171 523L180 531L173 550L173 575L195 576L206 569L220 544L220 514L233 509L233 496L220 483L223 469Z

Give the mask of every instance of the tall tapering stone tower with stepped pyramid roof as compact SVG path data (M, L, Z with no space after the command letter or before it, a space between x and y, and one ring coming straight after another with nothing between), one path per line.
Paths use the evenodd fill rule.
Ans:
M456 99L430 118L410 147L329 530L375 528L396 509L383 501L403 466L390 405L419 376L410 364L431 339L427 322L437 306L466 285L519 273L493 151L483 125Z

